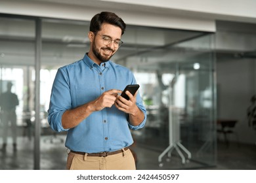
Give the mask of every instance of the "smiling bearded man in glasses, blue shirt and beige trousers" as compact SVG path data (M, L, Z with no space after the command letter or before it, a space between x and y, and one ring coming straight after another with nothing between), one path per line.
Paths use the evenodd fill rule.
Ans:
M146 123L139 93L119 93L136 84L129 69L110 61L121 46L125 23L112 12L96 14L84 58L58 69L49 107L49 124L68 131L67 169L135 169L130 129Z

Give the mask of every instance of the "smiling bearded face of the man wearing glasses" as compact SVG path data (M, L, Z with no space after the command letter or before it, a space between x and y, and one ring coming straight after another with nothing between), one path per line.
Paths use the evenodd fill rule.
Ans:
M120 40L121 29L114 25L102 24L102 29L95 34L92 42L92 51L100 62L110 60L118 49L118 46L114 44L114 41L111 41L109 44L105 44L103 37L108 37L112 40Z

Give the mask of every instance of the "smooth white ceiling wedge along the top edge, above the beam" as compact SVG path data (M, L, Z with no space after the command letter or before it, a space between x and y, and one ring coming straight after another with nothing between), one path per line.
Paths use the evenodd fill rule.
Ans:
M24 1L24 0L23 0ZM256 2L254 0L30 0L36 2L57 3L60 5L93 7L101 9L123 10L132 12L163 15L179 15L184 17L193 16L196 18L224 20L225 17L237 20L236 17L240 16L240 20L256 18ZM239 17L238 17L239 18Z

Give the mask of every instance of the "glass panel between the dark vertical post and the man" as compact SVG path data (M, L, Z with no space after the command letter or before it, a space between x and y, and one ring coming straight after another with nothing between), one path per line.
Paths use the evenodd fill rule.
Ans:
M89 22L42 20L41 105L45 113L59 67L83 58L89 49ZM66 131L54 132L47 119L41 127L41 169L66 169ZM51 150L52 153L49 153ZM54 160L53 160L54 159Z

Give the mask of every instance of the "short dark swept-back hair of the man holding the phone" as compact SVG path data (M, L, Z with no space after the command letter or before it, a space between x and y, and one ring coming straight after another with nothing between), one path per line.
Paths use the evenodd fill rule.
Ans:
M90 31L97 33L101 29L101 25L107 23L116 25L117 27L120 27L121 29L121 35L125 32L126 24L123 22L123 20L114 14L114 12L100 12L98 14L95 14L93 18L91 19L90 24Z

